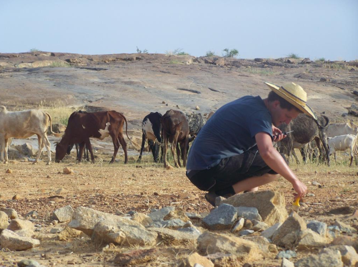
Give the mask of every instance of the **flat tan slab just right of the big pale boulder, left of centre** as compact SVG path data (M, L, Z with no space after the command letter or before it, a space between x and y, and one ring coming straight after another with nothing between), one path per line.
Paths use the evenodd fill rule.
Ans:
M165 228L147 228L148 231L158 233L158 237L166 244L185 244L195 243L197 234L192 234L184 231L177 231Z

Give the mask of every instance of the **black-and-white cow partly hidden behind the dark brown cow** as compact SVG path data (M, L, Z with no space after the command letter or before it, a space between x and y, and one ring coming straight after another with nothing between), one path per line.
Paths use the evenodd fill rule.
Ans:
M159 145L162 139L161 133L161 119L162 115L159 112L150 112L150 114L146 115L142 122L142 147L141 154L137 162L141 162L142 153L144 149L145 140L148 139L149 150L152 151L154 162L158 162L159 160ZM157 140L157 142L156 142ZM163 157L163 146L161 145L161 161Z

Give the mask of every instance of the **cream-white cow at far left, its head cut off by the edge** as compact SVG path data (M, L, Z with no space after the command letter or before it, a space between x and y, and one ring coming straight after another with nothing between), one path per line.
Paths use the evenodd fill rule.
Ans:
M52 119L49 113L30 109L24 111L8 111L6 107L0 106L0 160L8 161L7 148L10 138L28 138L37 135L38 152L34 163L37 162L41 155L42 149L46 146L48 163L51 162L50 142L47 139L46 131L50 123L52 132Z

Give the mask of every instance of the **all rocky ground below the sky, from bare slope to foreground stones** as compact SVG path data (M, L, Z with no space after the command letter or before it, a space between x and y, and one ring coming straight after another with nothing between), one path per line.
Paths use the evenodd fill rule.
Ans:
M0 54L0 104L11 109L61 100L75 108L116 109L125 113L129 135L138 136L149 111L208 113L242 95L264 97L269 92L264 81L294 81L307 89L311 106L332 121L355 119L341 115L358 97L357 63L302 61ZM138 164L135 150L129 164L122 155L108 165L110 145L95 146L95 164L75 164L71 155L49 166L46 155L37 165L15 158L12 147L13 160L0 164L0 266L28 266L20 261L29 259L60 267L279 267L282 256L296 267L356 265L358 168L347 167L346 157L331 167L292 165L309 191L299 216L288 216L293 196L285 179L213 210L182 168L165 170L147 156ZM235 208L243 202L257 209ZM265 231L278 222L283 223L279 229Z

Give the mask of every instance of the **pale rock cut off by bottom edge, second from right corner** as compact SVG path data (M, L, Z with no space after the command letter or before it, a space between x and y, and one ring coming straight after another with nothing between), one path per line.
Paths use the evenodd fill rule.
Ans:
M343 267L340 251L312 255L295 263L295 267Z

